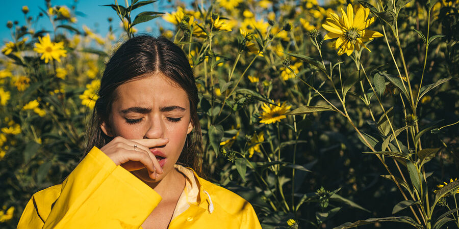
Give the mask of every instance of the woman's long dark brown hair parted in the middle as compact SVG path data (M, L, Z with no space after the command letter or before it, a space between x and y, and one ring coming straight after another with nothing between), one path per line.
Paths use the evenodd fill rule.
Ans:
M202 174L202 136L197 104L198 90L188 59L183 50L164 37L139 35L125 41L106 64L100 89L97 92L91 123L85 138L85 155L92 147L101 148L113 137L107 136L100 128L103 122L110 123L112 103L116 99L119 85L151 75L161 73L182 88L190 101L190 114L193 131L187 135L185 146L179 160L180 164L193 168Z

